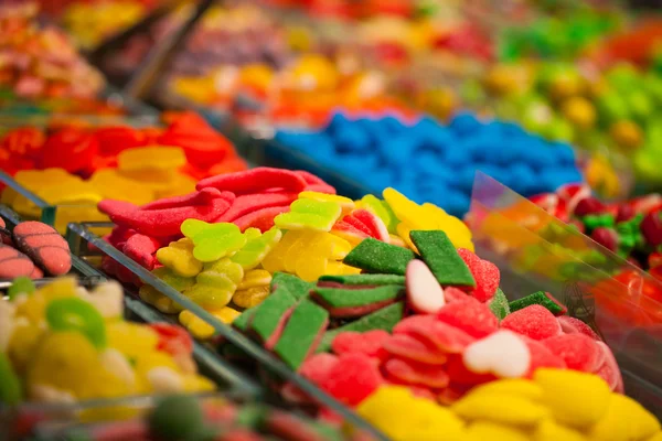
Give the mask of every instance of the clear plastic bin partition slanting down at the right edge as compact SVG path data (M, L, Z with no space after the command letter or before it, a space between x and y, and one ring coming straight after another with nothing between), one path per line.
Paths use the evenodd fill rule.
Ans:
M546 291L611 347L626 394L662 417L662 283L482 173L467 222L509 300Z

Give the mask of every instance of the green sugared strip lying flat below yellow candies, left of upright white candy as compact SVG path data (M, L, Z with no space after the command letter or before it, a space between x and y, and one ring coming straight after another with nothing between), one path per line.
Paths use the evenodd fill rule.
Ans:
M369 237L346 255L343 263L370 272L404 276L414 257L412 250Z

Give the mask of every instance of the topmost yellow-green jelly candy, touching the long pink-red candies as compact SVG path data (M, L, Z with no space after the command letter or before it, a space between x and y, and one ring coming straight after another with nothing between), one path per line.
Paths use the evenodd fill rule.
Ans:
M335 202L297 200L288 213L279 214L274 224L284 229L313 229L330 232L342 214L342 207Z

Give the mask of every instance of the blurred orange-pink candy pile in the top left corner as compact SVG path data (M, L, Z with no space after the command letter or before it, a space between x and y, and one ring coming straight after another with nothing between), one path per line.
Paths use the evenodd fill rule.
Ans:
M33 3L0 10L0 85L26 98L94 98L102 75L75 51L66 34L40 26Z

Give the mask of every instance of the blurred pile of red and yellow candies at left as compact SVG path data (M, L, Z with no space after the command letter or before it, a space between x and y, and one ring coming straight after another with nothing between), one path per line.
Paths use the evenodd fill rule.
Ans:
M195 181L244 170L234 147L195 114L175 116L163 128L130 126L11 130L0 141L0 166L52 205L66 205L56 228L72 220L107 219L96 204L107 197L145 204L184 194ZM26 217L41 209L11 189L2 202Z

